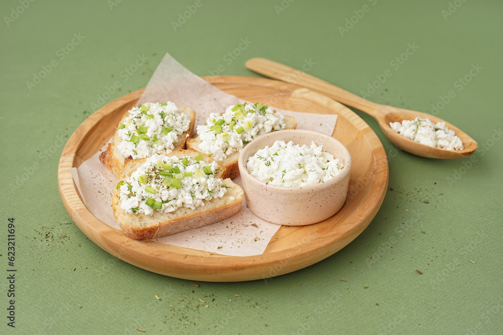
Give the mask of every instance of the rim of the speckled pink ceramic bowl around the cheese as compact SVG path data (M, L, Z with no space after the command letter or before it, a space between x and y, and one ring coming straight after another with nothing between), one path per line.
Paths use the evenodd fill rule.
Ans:
M314 142L316 142L316 140L315 140L316 137L318 137L318 138L319 137L323 137L323 138L325 138L328 141L334 142L336 145L340 146L343 149L343 151L345 152L345 156L346 156L345 158L347 159L347 162L344 165L344 168L336 176L333 176L332 178L330 178L328 180L325 180L325 181L323 181L321 183L317 183L317 184L314 184L314 185L304 185L304 186L282 186L282 185L270 184L270 183L266 183L266 182L264 182L262 180L259 180L256 177L254 177L253 175L251 175L251 173L248 171L248 169L246 169L246 165L244 164L244 156L246 156L246 154L249 151L251 151L251 147L252 146L250 146L250 144L254 143L254 142L255 142L255 144L257 144L257 143L259 143L261 141L262 142L263 141L267 141L271 137L279 136L277 134L285 134L285 133L312 135L313 138L314 138L312 141L314 141ZM280 140L276 140L276 141L280 141ZM298 143L295 143L295 144L298 144ZM319 146L319 144L316 144L316 145ZM264 148L265 148L265 146L264 146ZM255 155L255 153L247 155L246 160L250 156L253 156L253 155ZM339 158L339 157L334 157L334 158ZM349 152L348 148L346 148L346 146L341 143L341 141L339 141L338 139L336 139L336 138L334 138L334 137L332 137L330 135L326 135L326 134L318 132L318 131L307 130L307 129L284 129L284 130L278 130L278 131L271 132L271 133L262 135L260 137L257 137L253 141L249 142L241 150L241 152L239 153L239 159L238 159L238 168L239 168L239 175L241 176L241 180L243 178L243 175L246 175L246 177L249 177L250 180L253 180L253 182L255 182L255 183L259 184L259 185L263 185L263 186L267 187L268 189L276 189L276 190L282 190L282 191L291 190L291 191L297 191L297 192L301 192L301 191L309 191L309 192L316 191L316 190L324 189L326 187L330 187L332 185L336 185L336 184L340 183L346 177L349 177L349 174L351 172L351 164L352 164L351 153Z

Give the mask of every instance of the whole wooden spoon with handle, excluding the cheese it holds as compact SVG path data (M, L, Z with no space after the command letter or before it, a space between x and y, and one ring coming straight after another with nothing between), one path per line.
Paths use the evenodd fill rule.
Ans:
M307 87L311 90L324 94L334 100L358 108L377 120L384 135L398 148L411 154L428 158L460 158L471 155L477 149L477 142L466 135L460 129L450 123L433 115L421 113L420 111L402 109L393 106L383 105L366 100L358 95L350 93L342 88L334 86L326 81L306 74L303 71L295 70L286 65L274 62L265 58L252 58L244 65L251 71L257 72L269 78L279 79L285 82ZM427 146L414 142L397 132L389 126L390 122L402 122L402 120L413 120L416 117L430 119L432 122L445 122L447 128L453 130L463 142L463 150L445 150Z

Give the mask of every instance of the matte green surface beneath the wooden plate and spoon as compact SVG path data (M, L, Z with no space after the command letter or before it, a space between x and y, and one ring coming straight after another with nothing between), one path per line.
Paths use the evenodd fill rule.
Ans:
M488 0L3 1L0 277L11 268L10 217L17 272L15 328L0 279L0 332L503 333L502 10ZM249 45L230 58L241 39ZM409 44L417 48L405 57ZM355 110L381 140L390 174L379 212L347 247L268 281L150 273L78 230L56 177L64 143L107 87L121 83L105 103L145 87L166 52L200 76L220 64L221 75L257 76L244 67L251 57L294 68L311 60L310 74L357 94L389 69L368 99L427 113L438 105L437 116L479 147L474 161L416 157ZM147 62L124 75L138 55Z

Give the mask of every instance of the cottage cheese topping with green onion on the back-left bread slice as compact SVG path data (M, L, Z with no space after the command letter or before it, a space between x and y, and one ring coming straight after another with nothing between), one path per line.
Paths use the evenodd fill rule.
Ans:
M117 149L133 159L169 154L189 126L189 117L173 102L147 102L129 110L129 116L119 125L121 142Z

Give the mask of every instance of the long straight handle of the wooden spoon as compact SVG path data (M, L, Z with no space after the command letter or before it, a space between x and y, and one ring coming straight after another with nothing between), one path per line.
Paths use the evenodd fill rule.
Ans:
M322 93L336 101L358 108L372 116L374 119L377 119L383 114L381 111L383 105L366 100L358 95L307 74L304 71L295 70L281 63L265 58L251 58L244 63L244 66L251 71L262 74L263 76L307 87L311 90Z

